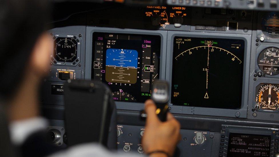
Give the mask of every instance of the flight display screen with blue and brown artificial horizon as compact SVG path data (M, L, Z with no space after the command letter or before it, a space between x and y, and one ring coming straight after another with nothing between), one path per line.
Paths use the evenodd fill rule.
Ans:
M159 78L161 37L93 33L93 80L107 84L115 101L145 102Z

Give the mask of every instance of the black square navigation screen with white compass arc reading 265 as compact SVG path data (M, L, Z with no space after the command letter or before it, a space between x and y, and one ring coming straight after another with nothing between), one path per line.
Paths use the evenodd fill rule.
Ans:
M244 40L175 37L174 105L239 109Z

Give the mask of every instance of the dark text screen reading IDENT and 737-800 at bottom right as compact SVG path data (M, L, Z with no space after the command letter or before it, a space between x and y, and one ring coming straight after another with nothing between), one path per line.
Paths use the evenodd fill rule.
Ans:
M228 157L270 155L270 136L230 133Z

